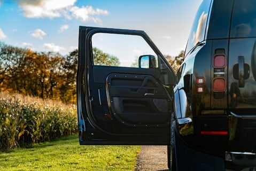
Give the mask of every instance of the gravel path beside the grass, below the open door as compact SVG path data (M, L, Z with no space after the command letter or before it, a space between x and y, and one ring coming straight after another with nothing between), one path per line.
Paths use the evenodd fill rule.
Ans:
M167 171L167 146L142 146L135 171Z

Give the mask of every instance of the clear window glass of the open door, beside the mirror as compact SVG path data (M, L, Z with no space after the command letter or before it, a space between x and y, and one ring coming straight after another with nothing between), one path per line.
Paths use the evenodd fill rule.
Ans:
M138 68L143 55L153 56L157 63L156 53L141 36L96 33L91 42L94 65Z

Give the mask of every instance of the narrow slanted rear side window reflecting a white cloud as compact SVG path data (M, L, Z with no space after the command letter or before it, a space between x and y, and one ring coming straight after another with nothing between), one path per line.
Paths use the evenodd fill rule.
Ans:
M211 1L203 1L197 11L190 31L186 53L188 53L197 43L204 40L210 3Z

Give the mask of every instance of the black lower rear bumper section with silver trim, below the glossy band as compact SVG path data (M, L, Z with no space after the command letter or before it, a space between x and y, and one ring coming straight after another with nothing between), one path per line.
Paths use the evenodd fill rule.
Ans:
M175 128L175 152L177 170L237 171L256 170L256 154L250 152L222 152L219 155L195 149L184 141Z

